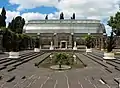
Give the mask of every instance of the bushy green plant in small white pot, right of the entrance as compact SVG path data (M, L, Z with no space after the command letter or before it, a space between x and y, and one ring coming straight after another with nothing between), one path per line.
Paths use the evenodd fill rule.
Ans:
M91 35L85 37L86 52L92 52L94 38Z

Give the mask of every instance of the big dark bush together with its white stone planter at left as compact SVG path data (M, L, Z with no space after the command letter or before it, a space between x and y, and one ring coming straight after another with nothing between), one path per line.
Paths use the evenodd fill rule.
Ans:
M3 39L2 46L9 52L8 58L19 58L19 37L18 34L10 31L8 28L2 28Z

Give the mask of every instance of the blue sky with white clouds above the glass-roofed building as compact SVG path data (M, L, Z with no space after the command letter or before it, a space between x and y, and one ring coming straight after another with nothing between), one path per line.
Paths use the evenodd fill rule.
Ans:
M119 10L120 0L0 0L0 11L4 6L7 11L7 20L21 15L25 20L58 19L64 12L65 19L70 19L76 13L76 19L99 19L106 29L109 16ZM109 30L107 30L109 32Z

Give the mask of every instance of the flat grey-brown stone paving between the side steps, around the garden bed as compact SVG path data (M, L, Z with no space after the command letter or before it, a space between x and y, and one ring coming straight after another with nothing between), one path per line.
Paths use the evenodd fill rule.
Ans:
M0 80L0 88L117 88L117 83L113 79L119 77L120 72L115 70L114 73L110 73L82 53L77 52L76 55L87 64L85 68L53 71L34 66L35 62L39 62L49 54L45 53L11 72L0 71L4 75ZM13 81L6 82L13 76L15 76ZM22 79L23 76L25 78ZM107 83L102 83L101 77Z

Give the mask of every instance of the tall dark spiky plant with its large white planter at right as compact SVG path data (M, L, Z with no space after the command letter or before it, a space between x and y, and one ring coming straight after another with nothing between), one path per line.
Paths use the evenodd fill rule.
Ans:
M115 47L115 36L113 34L113 32L111 32L111 35L107 37L107 40L106 40L106 49L107 49L107 52L104 52L104 59L115 59L114 57L114 52L112 52L112 50L114 49Z

